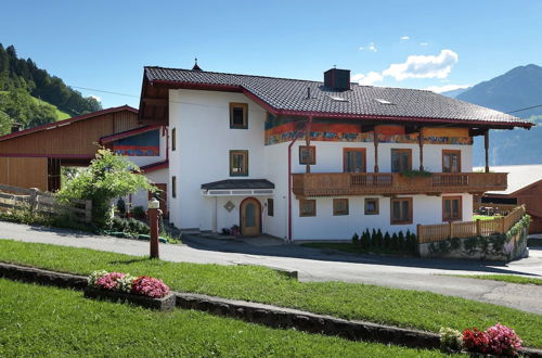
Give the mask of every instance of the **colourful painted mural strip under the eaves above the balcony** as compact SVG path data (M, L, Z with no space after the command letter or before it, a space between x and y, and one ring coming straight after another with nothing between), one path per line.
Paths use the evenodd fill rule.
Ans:
M266 145L292 141L299 130L299 120L274 117L269 115L266 120ZM418 133L405 133L403 126L376 126L379 143L412 143L418 142ZM327 142L373 142L374 133L361 132L360 124L315 119L311 124L310 139ZM301 138L305 138L302 135ZM459 144L470 145L473 138L467 128L424 128L424 144Z

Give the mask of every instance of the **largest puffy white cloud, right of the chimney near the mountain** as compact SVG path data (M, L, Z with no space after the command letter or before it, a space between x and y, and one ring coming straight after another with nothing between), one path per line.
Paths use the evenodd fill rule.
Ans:
M457 53L452 50L442 50L434 55L410 55L403 63L391 64L383 71L383 76L393 77L396 80L406 78L446 78L459 61Z

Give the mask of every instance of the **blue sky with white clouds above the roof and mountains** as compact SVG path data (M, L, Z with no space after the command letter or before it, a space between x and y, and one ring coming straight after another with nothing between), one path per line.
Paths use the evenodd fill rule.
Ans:
M138 106L144 65L441 89L542 65L542 1L10 1L14 44L104 107ZM79 89L80 90L80 89Z

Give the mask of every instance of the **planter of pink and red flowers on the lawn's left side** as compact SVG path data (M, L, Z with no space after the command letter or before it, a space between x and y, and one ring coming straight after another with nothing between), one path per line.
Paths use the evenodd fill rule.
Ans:
M176 296L162 280L104 270L92 272L85 289L85 297L129 302L158 310L175 307Z

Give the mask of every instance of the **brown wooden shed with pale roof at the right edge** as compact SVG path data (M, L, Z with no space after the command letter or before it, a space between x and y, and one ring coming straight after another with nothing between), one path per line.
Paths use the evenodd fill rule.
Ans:
M483 194L475 207L507 207L525 204L532 217L529 233L542 233L542 165L495 166L491 171L508 172L508 188Z

